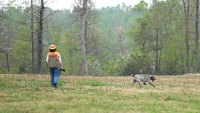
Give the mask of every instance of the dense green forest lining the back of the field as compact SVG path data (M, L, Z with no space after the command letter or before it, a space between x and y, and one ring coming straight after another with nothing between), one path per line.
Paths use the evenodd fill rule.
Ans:
M0 6L0 73L48 74L52 43L64 75L85 75L84 66L94 76L199 72L199 0L141 0L101 9L89 0L86 18L77 1L73 10L52 10L43 0Z

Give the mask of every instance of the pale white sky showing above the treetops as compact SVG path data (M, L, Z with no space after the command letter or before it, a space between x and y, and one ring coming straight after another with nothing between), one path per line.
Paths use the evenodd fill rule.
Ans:
M144 0L147 3L151 4L152 0ZM96 5L96 8L102 8L107 6L117 6L118 4L125 3L126 6L128 5L136 5L140 2L140 0L93 0ZM71 9L72 3L74 0L55 0L52 2L48 7L54 10L61 10L61 9Z

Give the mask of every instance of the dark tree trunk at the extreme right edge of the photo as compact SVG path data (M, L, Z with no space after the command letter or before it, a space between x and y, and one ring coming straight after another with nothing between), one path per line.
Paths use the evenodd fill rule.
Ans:
M195 19L195 25L196 25L196 72L199 72L199 0L197 0L196 3L196 19Z

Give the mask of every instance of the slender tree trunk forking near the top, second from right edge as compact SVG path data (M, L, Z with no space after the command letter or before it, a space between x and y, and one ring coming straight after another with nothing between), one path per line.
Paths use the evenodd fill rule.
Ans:
M188 30L188 16L189 16L189 8L190 8L190 0L182 0L184 5L184 15L185 15L185 44L186 44L186 73L190 72L190 59L189 59L189 30ZM186 5L187 2L187 5Z

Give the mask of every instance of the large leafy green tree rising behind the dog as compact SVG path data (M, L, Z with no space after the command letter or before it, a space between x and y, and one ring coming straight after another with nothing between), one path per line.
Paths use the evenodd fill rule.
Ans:
M151 59L148 64L145 62L145 66L149 65L146 70L152 67L150 68L153 69L152 72L155 69L157 74L185 72L183 64L186 50L182 41L182 37L185 36L182 32L184 28L182 12L183 7L179 0L154 1L154 4L133 25L137 27L130 33L135 39L135 47L140 50L139 53L134 54L138 54L140 58L145 56L142 61ZM137 58L135 56L133 59Z

